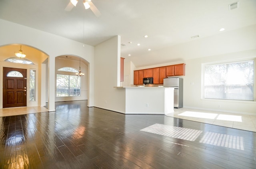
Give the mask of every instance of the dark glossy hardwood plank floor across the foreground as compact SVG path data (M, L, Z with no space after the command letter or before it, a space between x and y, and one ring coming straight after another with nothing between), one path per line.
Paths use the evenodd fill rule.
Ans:
M58 102L0 117L2 169L256 169L256 133Z

